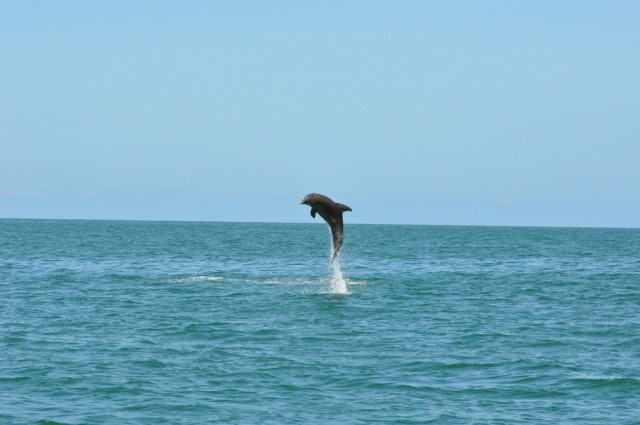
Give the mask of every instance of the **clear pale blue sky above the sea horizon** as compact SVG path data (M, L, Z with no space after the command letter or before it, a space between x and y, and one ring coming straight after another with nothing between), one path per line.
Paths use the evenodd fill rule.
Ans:
M0 217L639 227L639 18L0 0Z

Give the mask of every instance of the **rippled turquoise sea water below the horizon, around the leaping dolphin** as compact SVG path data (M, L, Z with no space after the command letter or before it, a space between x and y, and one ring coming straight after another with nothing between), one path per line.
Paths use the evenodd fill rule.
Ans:
M640 423L640 230L345 233L0 220L0 423Z

